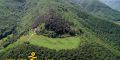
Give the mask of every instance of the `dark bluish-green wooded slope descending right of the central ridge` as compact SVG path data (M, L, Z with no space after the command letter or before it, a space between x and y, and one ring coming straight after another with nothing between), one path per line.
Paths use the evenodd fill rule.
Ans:
M91 31L93 31L96 36L98 36L101 40L108 42L108 44L115 46L115 49L119 49L119 39L120 39L120 26L114 24L113 22L104 20L102 18L98 18L96 16L92 16L91 14L86 13L85 11L79 11L78 6L71 8L76 15L78 15L79 22L87 27ZM77 10L77 12L76 12ZM79 14L79 13L82 13Z

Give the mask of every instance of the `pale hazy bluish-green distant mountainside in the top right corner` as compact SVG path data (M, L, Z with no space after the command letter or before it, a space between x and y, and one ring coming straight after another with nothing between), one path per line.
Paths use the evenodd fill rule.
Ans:
M106 0L104 0L104 2L102 2L101 0L70 0L70 1L80 4L80 6L83 9L87 10L89 13L92 13L93 15L96 15L98 17L102 17L105 19L107 18L108 20L114 21L120 19L120 12L106 5L105 4L107 3ZM114 1L111 1L111 3L112 2Z

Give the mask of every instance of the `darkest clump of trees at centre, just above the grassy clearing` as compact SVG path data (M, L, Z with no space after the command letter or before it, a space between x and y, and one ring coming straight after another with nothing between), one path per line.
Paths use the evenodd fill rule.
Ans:
M55 31L57 34L66 34L70 32L70 25L62 19L51 19L45 24L47 30Z

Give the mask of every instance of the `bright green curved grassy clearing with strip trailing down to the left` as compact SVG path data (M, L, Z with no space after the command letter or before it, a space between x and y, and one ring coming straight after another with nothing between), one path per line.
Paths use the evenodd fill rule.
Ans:
M77 48L80 44L80 37L66 37L66 38L48 38L42 35L32 35L33 32L30 32L28 35L22 36L17 42L10 44L8 47L1 49L0 52L7 52L15 46L23 44L24 42L30 42L32 45L39 47L47 47L50 49L74 49ZM32 35L32 36L31 36Z

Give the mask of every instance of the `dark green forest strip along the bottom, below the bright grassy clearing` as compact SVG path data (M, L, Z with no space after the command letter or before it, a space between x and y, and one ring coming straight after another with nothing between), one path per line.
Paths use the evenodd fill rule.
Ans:
M14 59L17 58L27 59L27 57L30 55L30 52L32 51L36 52L37 59L119 60L119 57L114 55L110 50L96 43L83 44L78 49L71 50L63 49L59 51L30 45L29 43L24 43L22 45L15 47L15 49L13 50L10 50L8 54L6 54L7 55L6 57Z

